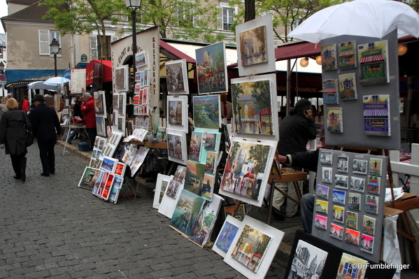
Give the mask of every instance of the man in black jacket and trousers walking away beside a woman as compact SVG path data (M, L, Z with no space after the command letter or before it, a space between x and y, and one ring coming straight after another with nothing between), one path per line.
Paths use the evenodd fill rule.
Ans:
M61 139L61 126L54 108L45 104L44 96L35 94L34 104L36 108L28 112L28 116L34 138L38 141L42 163L41 176L50 176L55 174L54 146L57 139Z

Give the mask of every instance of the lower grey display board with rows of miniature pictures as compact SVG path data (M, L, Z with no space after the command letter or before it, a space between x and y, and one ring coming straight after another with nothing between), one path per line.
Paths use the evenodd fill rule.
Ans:
M379 262L388 158L320 150L312 234Z

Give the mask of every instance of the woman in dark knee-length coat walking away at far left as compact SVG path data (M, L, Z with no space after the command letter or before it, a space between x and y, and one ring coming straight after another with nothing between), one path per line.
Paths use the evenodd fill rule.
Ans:
M8 111L1 116L0 143L6 147L6 155L10 154L15 179L26 180L26 131L31 130L31 122L27 114L18 110L19 104L16 99L6 101Z

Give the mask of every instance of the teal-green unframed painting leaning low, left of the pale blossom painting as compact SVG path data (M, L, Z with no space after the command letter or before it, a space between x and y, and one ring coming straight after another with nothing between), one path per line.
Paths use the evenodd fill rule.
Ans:
M169 224L183 234L191 236L192 229L203 206L204 199L183 189L180 192Z

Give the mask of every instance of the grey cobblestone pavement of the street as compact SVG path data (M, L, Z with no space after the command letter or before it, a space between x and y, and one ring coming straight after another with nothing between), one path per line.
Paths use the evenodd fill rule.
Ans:
M29 147L22 183L0 150L0 278L244 278L171 229L145 192L114 205L78 188L87 161L55 151L56 174L43 177ZM287 257L278 251L267 278L283 278Z

